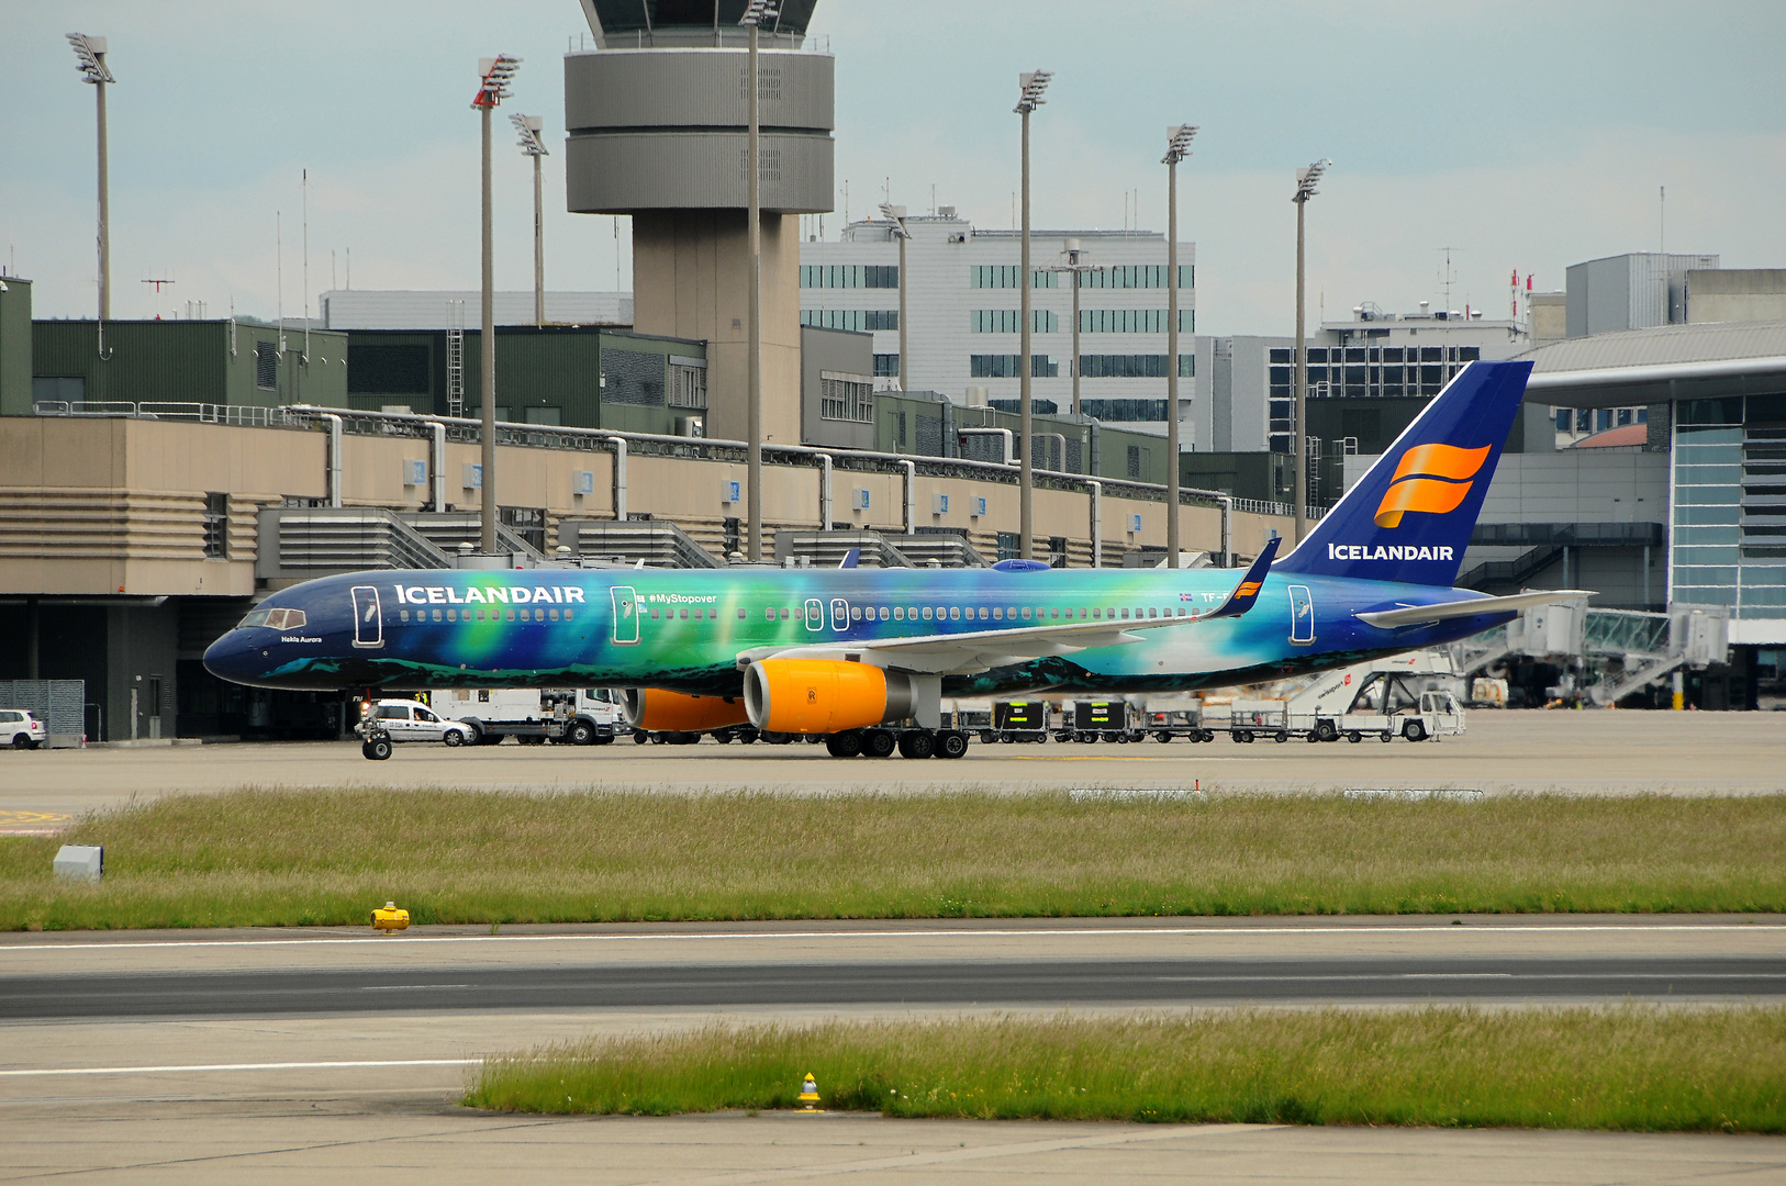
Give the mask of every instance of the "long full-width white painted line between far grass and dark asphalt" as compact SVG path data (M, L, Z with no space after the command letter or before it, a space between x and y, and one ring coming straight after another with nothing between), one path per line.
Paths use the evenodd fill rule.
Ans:
M1777 932L1786 934L1786 925L1779 923L1541 923L1541 925L1497 925L1466 923L1461 927L1423 925L1423 927L1061 927L1061 929L1000 929L1000 931L698 931L668 934L404 934L404 936L341 936L327 940L146 940L121 943L0 943L4 952L116 952L179 947L223 948L223 947L339 947L339 945L375 945L375 947L413 947L416 943L695 943L713 940L984 940L984 938L1111 938L1111 936L1202 936L1220 938L1229 934L1588 934L1623 931L1638 934L1652 932L1713 932L1731 931L1741 934Z

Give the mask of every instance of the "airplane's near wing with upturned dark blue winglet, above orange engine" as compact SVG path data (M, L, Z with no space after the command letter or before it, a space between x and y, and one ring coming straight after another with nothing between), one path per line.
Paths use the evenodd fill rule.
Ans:
M1272 539L1247 573L1214 611L1188 618L1136 618L1129 622L1072 622L1004 631L964 631L959 634L920 634L916 638L875 638L793 647L752 647L738 656L738 666L757 659L855 659L882 668L929 673L973 673L1047 656L1070 656L1093 647L1139 643L1141 632L1173 625L1191 625L1211 618L1238 618L1259 598L1259 586L1277 554Z

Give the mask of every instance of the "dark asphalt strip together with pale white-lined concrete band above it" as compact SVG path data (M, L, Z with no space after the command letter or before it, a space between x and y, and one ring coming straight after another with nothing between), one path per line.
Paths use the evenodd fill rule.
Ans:
M1161 925L1179 922L1181 925ZM0 1020L1786 997L1786 927L1184 920L11 936ZM418 929L420 931L420 929Z

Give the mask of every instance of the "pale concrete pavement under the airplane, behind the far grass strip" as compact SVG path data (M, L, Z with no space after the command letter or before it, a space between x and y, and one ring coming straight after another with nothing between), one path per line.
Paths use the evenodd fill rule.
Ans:
M836 759L816 745L400 745L371 763L354 741L0 752L0 832L45 831L132 797L243 786L564 791L775 788L1138 788L1231 791L1482 789L1631 793L1786 791L1775 713L1475 711L1461 738L1423 743L982 745L966 757Z

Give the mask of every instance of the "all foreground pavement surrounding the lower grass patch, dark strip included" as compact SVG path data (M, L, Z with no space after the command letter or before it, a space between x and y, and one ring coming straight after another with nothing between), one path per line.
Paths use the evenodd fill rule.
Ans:
M1779 1000L1786 918L956 920L0 936L0 1181L1688 1182L1786 1141L498 1116L486 1054L725 1022L1263 1004ZM1189 979L1177 979L1189 977ZM1254 977L1254 979L1247 979ZM1352 977L1352 979L1348 979ZM1557 977L1557 979L1543 979ZM1659 977L1659 979L1657 979ZM446 986L464 988L446 988ZM1073 1004L1079 1002L1079 1004ZM1772 1175L1772 1177L1770 1177Z

